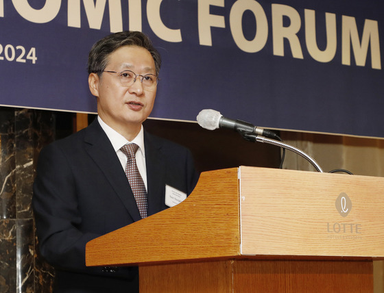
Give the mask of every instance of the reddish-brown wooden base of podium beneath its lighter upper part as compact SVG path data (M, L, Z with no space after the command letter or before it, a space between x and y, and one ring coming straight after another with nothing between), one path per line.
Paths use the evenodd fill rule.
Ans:
M140 267L141 293L373 292L372 262L224 260Z

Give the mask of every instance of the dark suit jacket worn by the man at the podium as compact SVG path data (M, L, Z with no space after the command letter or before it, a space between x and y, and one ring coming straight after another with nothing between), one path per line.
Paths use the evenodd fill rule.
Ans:
M190 194L198 175L184 147L146 132L144 142L150 216L167 208L166 184ZM56 292L139 292L137 268L85 266L86 242L141 219L97 119L40 152L32 206L40 253L56 268Z

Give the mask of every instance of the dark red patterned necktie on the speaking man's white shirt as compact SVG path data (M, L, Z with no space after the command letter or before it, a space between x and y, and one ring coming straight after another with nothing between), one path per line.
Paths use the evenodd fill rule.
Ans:
M137 144L125 144L121 147L121 151L127 156L127 164L125 166L125 175L130 183L134 199L136 199L137 207L141 218L147 217L147 190L143 178L139 173L139 169L136 165L136 151L139 149Z

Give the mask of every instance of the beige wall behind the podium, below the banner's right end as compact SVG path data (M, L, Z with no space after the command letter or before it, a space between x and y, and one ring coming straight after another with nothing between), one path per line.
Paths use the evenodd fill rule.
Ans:
M384 177L384 139L294 131L282 131L281 138L311 155L324 172L342 168L356 175ZM286 153L283 168L315 170L307 160L290 151ZM383 292L384 262L374 262L374 293Z

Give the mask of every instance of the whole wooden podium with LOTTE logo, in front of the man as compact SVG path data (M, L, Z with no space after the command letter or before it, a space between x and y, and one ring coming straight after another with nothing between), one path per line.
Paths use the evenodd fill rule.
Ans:
M101 236L87 266L139 266L140 292L373 292L384 178L241 166Z

